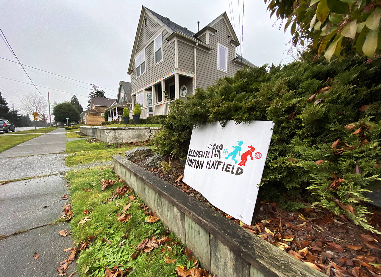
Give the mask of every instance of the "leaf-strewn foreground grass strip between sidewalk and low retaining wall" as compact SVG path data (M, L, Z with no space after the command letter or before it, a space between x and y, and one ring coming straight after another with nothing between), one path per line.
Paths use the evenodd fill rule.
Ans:
M126 276L131 277L175 277L176 266L192 267L193 259L186 261L187 256L182 254L184 246L175 235L166 233L166 227L160 220L147 222L149 215L144 213L141 205L144 203L139 198L134 199L131 196L133 192L110 200L112 192L118 186L125 185L124 182L117 182L101 191L101 179L118 180L110 167L71 171L66 177L70 180L70 199L74 212L70 221L72 239L83 244L94 236L78 255L80 276L105 276L105 267L112 269L117 266L118 270L131 268L128 273L125 272ZM130 208L123 212L128 204L131 205ZM148 210L149 208L146 209ZM117 212L132 217L123 223L118 222ZM81 224L80 221L84 218L87 221ZM152 248L148 253L139 250L136 258L131 257L137 252L136 246L152 236L158 240L169 236L171 241L158 243L158 248ZM165 257L172 262L166 263L168 260Z

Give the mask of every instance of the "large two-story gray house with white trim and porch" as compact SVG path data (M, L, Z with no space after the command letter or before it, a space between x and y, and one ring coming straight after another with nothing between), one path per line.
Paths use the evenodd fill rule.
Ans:
M255 67L236 53L239 40L226 12L195 34L142 6L131 54L132 106L141 118L168 114L170 99L186 99L243 66Z

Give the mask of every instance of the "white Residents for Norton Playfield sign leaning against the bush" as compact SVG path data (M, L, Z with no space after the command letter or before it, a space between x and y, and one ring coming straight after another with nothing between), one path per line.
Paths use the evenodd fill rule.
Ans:
M250 225L273 126L272 121L229 120L225 128L218 122L194 128L182 180Z

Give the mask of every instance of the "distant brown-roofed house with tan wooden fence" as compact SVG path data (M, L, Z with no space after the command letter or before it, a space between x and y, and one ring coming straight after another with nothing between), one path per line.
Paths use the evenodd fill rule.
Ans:
M104 122L104 110L114 104L116 99L91 97L90 110L82 112L85 124L97 125Z

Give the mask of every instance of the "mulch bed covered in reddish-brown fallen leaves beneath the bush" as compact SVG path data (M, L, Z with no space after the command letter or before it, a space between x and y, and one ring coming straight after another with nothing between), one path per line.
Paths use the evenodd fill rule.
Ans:
M168 161L168 156L164 160ZM169 172L147 168L146 159L132 162L328 276L381 277L381 235L363 229L344 215L337 216L322 208L304 208L295 213L282 210L277 203L257 200L252 224L248 226L183 183L184 168L178 159L171 161ZM381 231L381 211L373 206L369 210L369 222Z

